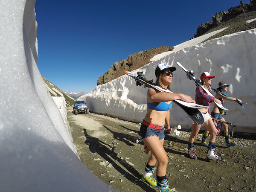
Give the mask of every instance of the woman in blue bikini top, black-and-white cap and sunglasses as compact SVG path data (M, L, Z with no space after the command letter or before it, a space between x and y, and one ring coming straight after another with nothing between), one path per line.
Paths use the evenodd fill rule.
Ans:
M172 72L176 67L169 67L164 63L158 64L155 69L155 76L157 77L156 84L160 87L170 90L169 84L172 83ZM185 102L195 101L187 95L182 93L160 93L149 88L147 94L147 113L140 126L140 136L143 139L145 152L151 151L142 180L149 183L151 186L157 186L160 192L171 192L169 189L169 182L166 177L166 167L168 164L168 157L163 148L164 141L164 125L166 123L169 132L170 128L170 109L172 108L172 100L181 99ZM156 170L156 180L153 177L155 171L155 164L158 162Z

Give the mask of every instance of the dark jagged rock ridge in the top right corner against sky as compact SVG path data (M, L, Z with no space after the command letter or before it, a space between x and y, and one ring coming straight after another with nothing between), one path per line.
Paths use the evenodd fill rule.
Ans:
M227 11L221 11L216 13L215 15L212 15L212 21L206 22L205 24L202 23L201 26L198 26L197 32L194 35L194 38L197 38L204 33L208 32L210 29L220 25L221 23L230 20L237 15L240 15L242 13L247 13L251 11L256 11L256 0L250 0L250 4L247 5L246 3L243 3L240 1L240 5L236 7L231 7Z

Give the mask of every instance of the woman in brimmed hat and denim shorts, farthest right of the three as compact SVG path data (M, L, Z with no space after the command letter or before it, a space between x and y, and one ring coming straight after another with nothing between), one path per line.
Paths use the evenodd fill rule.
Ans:
M228 86L229 85L225 81L221 81L218 84L218 89L217 90L224 93L224 92L227 91ZM242 102L240 99L237 99L237 98L234 98L234 97L224 96L223 94L221 94L219 92L216 93L215 98L221 101L221 105L223 105L223 103L224 103L223 99L226 99L228 101ZM220 119L221 121L226 122L226 120L223 117L224 116L223 110L218 108L217 105L214 105L214 108L212 109L212 112L211 112L211 116L215 119ZM226 123L222 123L222 127L224 128L224 131L225 131L224 134L225 134L225 141L226 141L227 147L235 146L236 142L233 142L233 141L230 140L229 133L228 133L228 125ZM209 134L209 131L205 131L204 135L203 135L203 138L201 140L201 145L206 146L206 147L208 146L208 143L206 142L208 134Z

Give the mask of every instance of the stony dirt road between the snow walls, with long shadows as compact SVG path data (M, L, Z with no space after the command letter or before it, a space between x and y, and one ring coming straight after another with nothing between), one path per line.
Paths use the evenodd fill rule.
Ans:
M121 192L153 192L156 187L140 178L149 155L139 139L140 124L95 113L74 115L67 109L74 143L82 163L97 177ZM164 148L169 157L167 177L173 191L256 191L256 138L235 134L238 143L226 148L218 136L217 153L221 161L207 161L207 148L195 140L197 160L187 155L189 131L168 135ZM154 175L155 176L155 175Z

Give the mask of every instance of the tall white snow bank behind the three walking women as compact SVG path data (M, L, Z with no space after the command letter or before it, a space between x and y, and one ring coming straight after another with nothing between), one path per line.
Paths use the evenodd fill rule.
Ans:
M205 38L208 38L209 35ZM203 41L199 37L200 42ZM196 42L196 38L190 41ZM184 93L195 99L195 83L186 78L186 73L177 66L179 61L187 69L192 69L197 78L208 71L215 76L212 87L217 88L219 81L230 84L227 94L248 103L245 110L235 102L225 101L227 111L226 121L236 124L236 131L256 133L256 29L225 35L202 44L190 46L191 42L183 43L184 49L168 55L160 54L152 58L152 62L141 67L145 78L154 79L154 69L157 64L165 62L177 67L171 84L175 93ZM177 46L178 47L178 46ZM142 122L146 113L146 91L143 86L135 85L135 80L121 76L103 85L95 87L79 100L86 100L91 111L110 116ZM215 95L215 93L213 93ZM211 107L212 109L212 107ZM192 120L177 105L173 104L170 122L172 125L182 125L190 128Z

